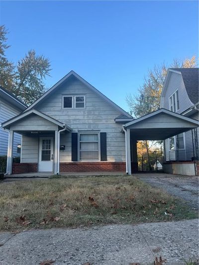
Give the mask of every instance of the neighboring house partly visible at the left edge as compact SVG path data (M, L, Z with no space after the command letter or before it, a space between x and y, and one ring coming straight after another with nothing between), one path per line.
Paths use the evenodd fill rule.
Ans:
M27 107L12 93L0 87L0 156L7 155L8 132L1 128L1 123L18 115ZM13 157L20 156L21 135L14 133Z

